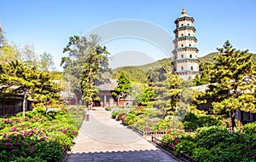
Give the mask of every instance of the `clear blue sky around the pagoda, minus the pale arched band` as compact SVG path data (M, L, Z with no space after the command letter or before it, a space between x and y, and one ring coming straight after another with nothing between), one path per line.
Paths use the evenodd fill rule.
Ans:
M69 37L127 19L147 21L173 37L174 20L183 7L195 19L199 56L216 51L226 40L236 49L256 53L254 0L0 0L0 22L10 42L33 44L38 55L49 52L61 70L62 49ZM133 50L154 60L168 57L154 44L135 38L115 39L104 45L112 55Z

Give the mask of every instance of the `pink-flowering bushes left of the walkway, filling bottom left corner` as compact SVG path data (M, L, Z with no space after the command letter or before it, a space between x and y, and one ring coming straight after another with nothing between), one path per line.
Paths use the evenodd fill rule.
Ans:
M57 161L71 148L78 134L73 118L64 109L52 114L42 109L26 112L26 118L0 119L0 161Z

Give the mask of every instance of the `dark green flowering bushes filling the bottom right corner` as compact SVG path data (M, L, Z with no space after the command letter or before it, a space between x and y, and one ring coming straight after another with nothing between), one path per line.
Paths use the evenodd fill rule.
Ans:
M203 127L189 134L173 130L162 138L162 143L175 154L186 153L195 161L255 161L256 137L246 133L247 127L232 132L223 127ZM195 133L194 136L191 136Z

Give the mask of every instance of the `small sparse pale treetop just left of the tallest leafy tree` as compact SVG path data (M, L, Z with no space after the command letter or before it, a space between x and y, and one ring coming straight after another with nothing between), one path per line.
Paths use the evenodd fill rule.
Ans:
M47 52L40 55L40 65L44 72L53 72L56 70L54 58Z

